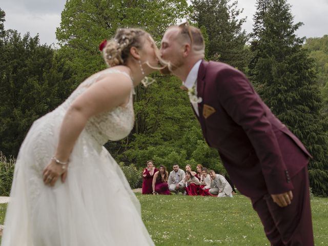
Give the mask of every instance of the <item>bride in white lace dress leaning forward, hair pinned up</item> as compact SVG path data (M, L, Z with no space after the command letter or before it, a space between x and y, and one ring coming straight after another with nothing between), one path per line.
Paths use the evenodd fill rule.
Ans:
M119 29L101 45L110 68L36 120L20 147L3 246L154 245L137 198L103 145L132 130L134 87L160 57L140 29Z

